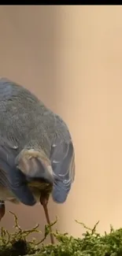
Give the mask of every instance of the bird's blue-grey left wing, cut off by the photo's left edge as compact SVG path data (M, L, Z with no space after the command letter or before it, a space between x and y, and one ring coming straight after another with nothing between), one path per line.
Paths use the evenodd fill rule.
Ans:
M29 190L24 173L15 166L17 147L8 139L0 138L0 184L8 187L25 205L35 204L35 198Z

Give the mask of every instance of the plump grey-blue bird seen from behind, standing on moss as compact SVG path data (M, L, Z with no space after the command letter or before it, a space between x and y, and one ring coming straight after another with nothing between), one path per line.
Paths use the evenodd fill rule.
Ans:
M0 220L5 202L64 203L75 180L68 125L19 83L0 77ZM53 241L52 241L53 243Z

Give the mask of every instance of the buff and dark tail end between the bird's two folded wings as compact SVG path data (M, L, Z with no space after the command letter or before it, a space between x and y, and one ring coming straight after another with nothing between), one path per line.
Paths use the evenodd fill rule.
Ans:
M22 150L16 158L16 165L24 174L28 187L37 201L41 191L50 193L54 184L54 173L50 159L43 150Z

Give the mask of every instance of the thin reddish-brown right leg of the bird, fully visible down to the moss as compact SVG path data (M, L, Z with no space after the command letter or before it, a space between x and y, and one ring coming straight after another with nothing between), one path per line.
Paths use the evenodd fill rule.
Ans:
M47 208L48 199L43 197L43 195L42 195L40 197L40 202L43 206L43 210L44 210L45 215L46 215L46 221L47 221L47 224L49 225L49 228L50 228L50 240L51 240L51 243L54 244L54 236L52 234L52 228L50 226L50 217L49 217L48 208Z

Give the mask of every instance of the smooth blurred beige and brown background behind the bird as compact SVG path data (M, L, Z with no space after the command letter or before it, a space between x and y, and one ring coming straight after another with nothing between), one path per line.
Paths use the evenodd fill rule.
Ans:
M50 200L58 228L75 219L98 230L122 226L122 6L0 6L0 75L34 91L67 122L76 148L68 200ZM40 223L41 206L7 204L2 225Z

